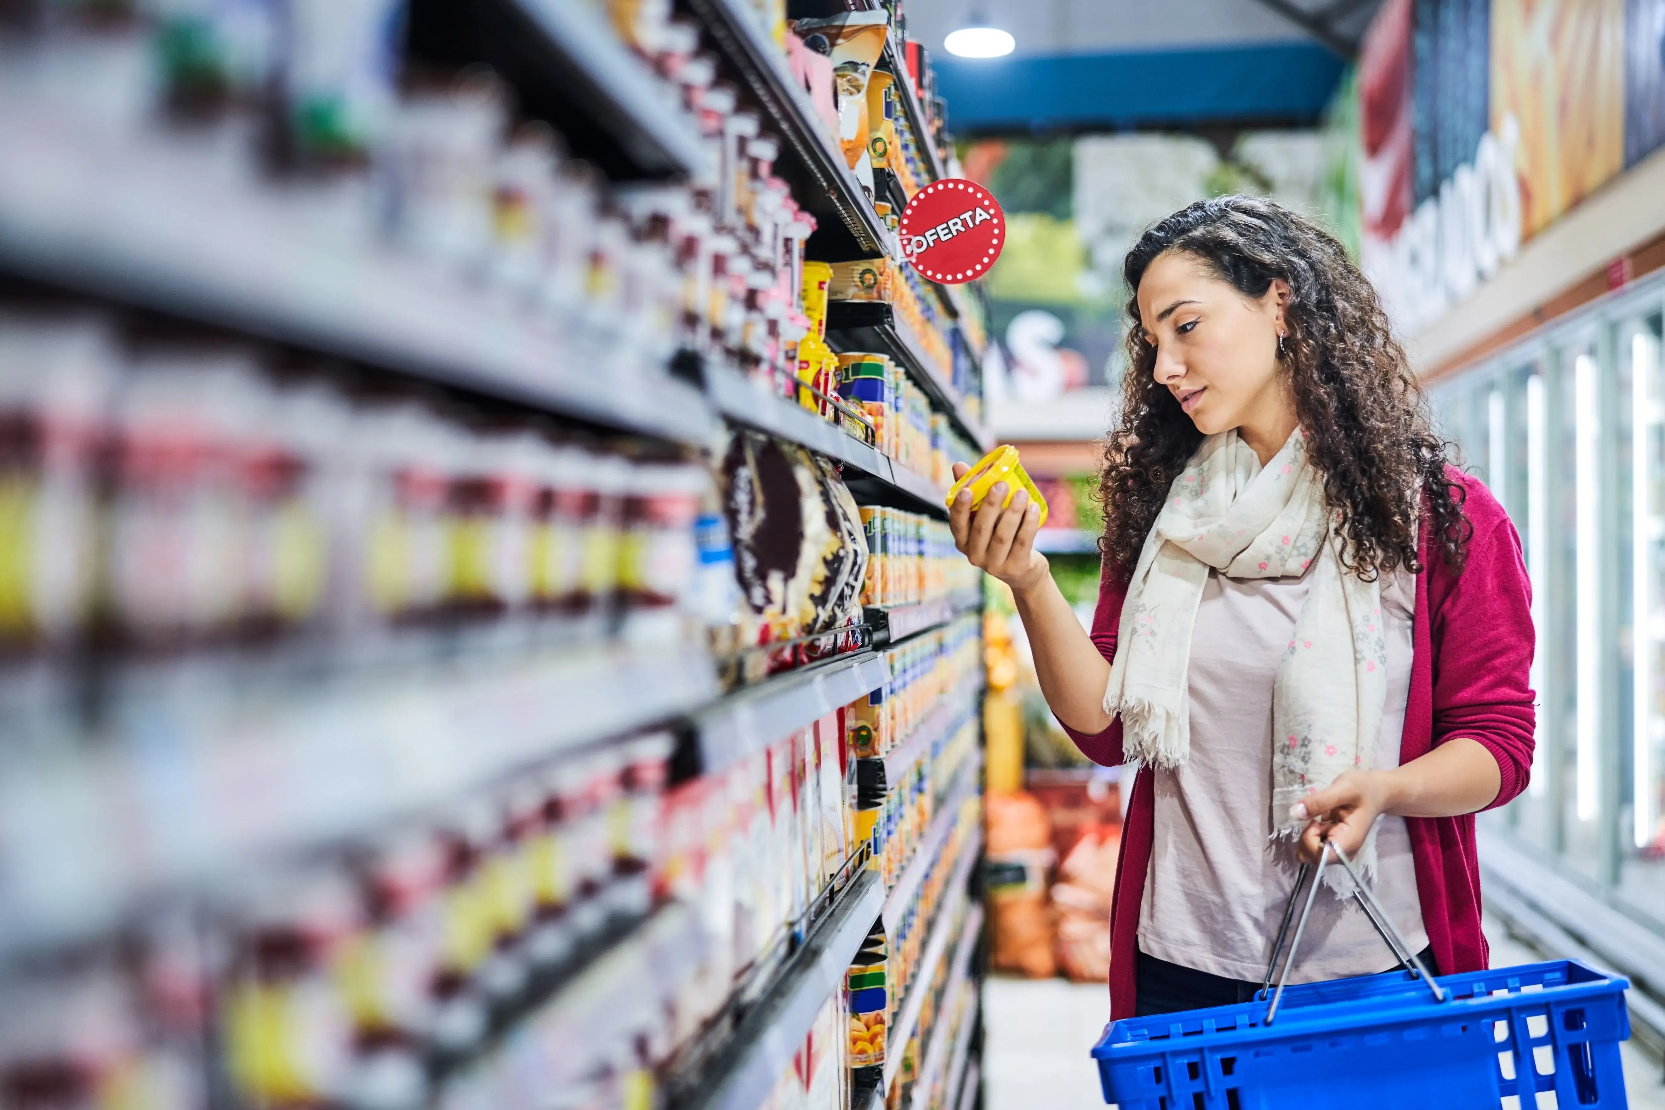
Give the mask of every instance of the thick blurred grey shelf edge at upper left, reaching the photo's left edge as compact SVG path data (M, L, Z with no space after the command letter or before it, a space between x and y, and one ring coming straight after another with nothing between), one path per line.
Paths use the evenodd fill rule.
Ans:
M594 18L541 8L563 25ZM0 111L0 271L608 428L689 444L716 429L693 386L598 376L509 298L343 236L318 205L228 181L210 151L88 135L27 103Z

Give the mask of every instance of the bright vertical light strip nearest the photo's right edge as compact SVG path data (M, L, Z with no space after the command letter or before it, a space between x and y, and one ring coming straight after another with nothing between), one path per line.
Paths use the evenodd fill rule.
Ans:
M1655 538L1660 531L1653 511L1653 429L1658 411L1653 401L1653 376L1658 371L1658 344L1653 336L1638 333L1630 341L1630 566L1632 566L1632 617L1630 639L1635 644L1635 676L1632 679L1633 721L1630 729L1632 777L1635 785L1632 812L1637 847L1653 840L1658 820L1658 794L1653 784L1653 742L1658 721L1653 697L1658 691L1658 644L1653 637L1653 566Z

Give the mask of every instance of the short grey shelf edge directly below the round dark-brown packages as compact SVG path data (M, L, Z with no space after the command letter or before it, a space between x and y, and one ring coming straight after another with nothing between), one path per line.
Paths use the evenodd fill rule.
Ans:
M781 674L694 714L706 774L764 751L839 706L879 689L889 669L871 651Z

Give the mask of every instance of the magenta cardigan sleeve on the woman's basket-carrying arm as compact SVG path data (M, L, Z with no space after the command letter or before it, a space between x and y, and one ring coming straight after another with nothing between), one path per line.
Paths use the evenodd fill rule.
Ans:
M1535 631L1532 581L1520 538L1479 483L1465 508L1475 531L1467 562L1452 574L1439 551L1429 562L1429 632L1434 642L1434 744L1465 736L1497 761L1502 776L1487 809L1518 795L1532 776L1537 709L1530 686Z

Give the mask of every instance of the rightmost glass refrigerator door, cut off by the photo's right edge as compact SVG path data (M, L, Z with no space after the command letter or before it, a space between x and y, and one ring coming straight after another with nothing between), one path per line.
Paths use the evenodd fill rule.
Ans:
M1665 373L1660 318L1620 330L1630 413L1630 706L1623 895L1665 922ZM1613 815L1622 817L1620 814Z

